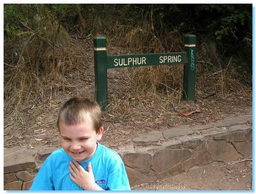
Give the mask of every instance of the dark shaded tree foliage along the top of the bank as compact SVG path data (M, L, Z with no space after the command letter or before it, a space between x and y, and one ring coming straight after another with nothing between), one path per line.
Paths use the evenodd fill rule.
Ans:
M159 36L177 28L181 33L200 33L218 40L228 52L236 51L244 38L252 38L251 4L5 4L4 31L9 36L41 31L53 20L72 30L80 17L87 23L87 33L108 33L117 21L133 27L148 21Z

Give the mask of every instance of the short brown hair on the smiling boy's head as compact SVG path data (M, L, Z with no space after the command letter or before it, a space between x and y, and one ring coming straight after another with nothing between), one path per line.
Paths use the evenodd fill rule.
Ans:
M96 133L102 126L101 110L98 103L89 100L88 98L74 97L69 99L59 111L57 126L63 122L66 125L78 124L86 122L88 116L91 118Z

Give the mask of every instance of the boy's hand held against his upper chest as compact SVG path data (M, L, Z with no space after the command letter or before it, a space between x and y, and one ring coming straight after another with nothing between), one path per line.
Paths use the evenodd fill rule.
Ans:
M88 171L86 171L77 161L70 162L69 166L72 181L84 190L103 190L95 183L91 162L88 163Z

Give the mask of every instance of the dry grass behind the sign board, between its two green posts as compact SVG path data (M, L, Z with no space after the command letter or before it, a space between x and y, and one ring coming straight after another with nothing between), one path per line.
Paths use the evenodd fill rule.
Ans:
M161 39L154 31L154 25L146 20L134 28L116 23L112 31L114 36L107 36L109 55L183 50L182 37L177 30L166 32ZM120 79L127 88L109 96L108 112L112 115L109 119L145 119L149 110L158 117L173 109L171 102L179 103L182 99L182 64L125 68L120 72Z

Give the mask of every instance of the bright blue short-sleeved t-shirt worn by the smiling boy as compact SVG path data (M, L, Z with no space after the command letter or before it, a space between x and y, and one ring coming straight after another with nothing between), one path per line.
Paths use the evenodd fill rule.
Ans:
M78 162L84 169L91 162L95 182L104 190L131 190L121 157L112 149L97 143L94 155ZM55 150L42 164L30 190L83 190L69 177L73 159L61 149Z

